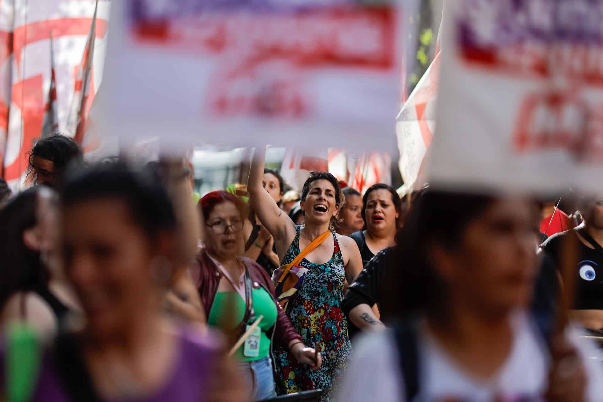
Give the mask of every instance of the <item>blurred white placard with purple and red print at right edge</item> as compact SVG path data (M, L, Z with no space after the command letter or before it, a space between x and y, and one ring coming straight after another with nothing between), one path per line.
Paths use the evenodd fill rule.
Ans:
M552 191L603 177L603 1L446 3L432 183Z

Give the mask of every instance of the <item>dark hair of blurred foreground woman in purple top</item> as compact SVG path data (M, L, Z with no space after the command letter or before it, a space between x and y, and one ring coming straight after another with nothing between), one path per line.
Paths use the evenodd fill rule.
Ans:
M64 208L102 198L125 201L134 222L151 239L177 227L167 190L148 169L116 162L68 172L62 196Z

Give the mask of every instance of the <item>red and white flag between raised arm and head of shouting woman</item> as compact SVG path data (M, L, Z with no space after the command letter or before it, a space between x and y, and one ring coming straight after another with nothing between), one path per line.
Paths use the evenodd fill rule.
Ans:
M324 152L308 152L298 148L287 148L280 175L285 182L297 191L301 191L311 171L326 172L329 169L329 155Z

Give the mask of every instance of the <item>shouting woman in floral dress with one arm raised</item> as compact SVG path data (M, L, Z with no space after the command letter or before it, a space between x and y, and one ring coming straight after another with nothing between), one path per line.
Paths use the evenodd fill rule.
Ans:
M288 350L277 349L277 387L282 394L320 388L326 391L321 400L328 401L352 351L340 307L344 281L347 278L352 283L362 270L362 260L354 240L333 231L343 204L337 179L326 172L310 174L301 191L305 224L296 226L262 187L264 159L265 148L256 148L247 181L251 206L274 237L281 263L292 264L297 258L297 272L305 272L297 282L297 290L289 289L293 292L286 302L286 313L303 342L325 356L320 369L309 371ZM309 245L315 247L305 258L298 257ZM280 276L273 279L279 281Z

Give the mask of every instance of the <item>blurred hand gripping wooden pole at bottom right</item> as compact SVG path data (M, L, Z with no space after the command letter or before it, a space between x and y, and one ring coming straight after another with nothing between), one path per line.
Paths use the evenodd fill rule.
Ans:
M584 402L586 399L586 371L576 348L563 332L551 340L552 365L549 372L548 402Z

